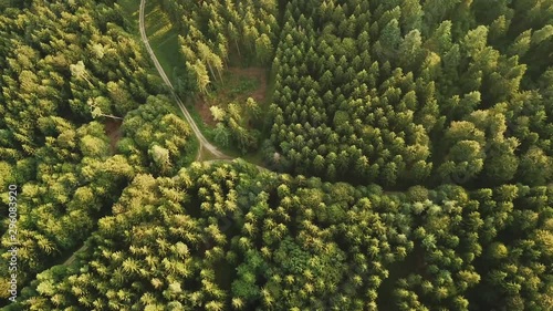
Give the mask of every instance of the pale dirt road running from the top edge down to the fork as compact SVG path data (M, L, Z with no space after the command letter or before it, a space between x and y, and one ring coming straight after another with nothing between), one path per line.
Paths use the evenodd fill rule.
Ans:
M165 84L169 87L169 91L177 102L178 107L185 115L186 121L188 124L190 124L190 127L194 131L194 134L196 137L198 137L198 141L200 143L200 147L198 148L198 156L196 157L196 160L201 160L201 149L206 149L207 152L211 153L212 156L217 159L231 159L232 157L223 154L220 152L216 146L213 146L211 143L209 143L206 137L204 137L204 134L201 134L200 129L198 128L198 125L196 125L196 122L194 122L192 117L190 116L190 113L188 110L185 107L185 104L180 100L180 97L177 95L175 92L175 89L173 87L171 82L169 81L169 77L167 77L167 74L165 73L161 64L159 64L159 61L157 60L156 54L154 53L154 50L152 50L152 46L149 45L148 37L146 35L146 28L145 28L145 22L144 22L144 10L146 7L146 0L140 0L140 11L139 11L139 29L140 29L140 37L142 41L144 42L144 45L146 45L146 50L148 51L149 58L154 62L154 65L157 69L157 72L164 80Z

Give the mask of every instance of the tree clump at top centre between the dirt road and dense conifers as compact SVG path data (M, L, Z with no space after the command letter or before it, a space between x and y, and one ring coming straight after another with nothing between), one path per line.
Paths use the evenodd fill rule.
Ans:
M198 91L207 93L211 81L222 82L222 71L232 54L246 64L272 61L279 30L275 1L186 3L186 9L175 1L165 1L164 7L173 22L186 30L179 39L180 52L188 70L196 74Z

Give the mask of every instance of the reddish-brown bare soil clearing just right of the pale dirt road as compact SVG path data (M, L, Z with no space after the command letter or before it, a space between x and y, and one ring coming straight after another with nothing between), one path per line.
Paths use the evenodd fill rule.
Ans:
M230 73L230 75L240 75L244 77L249 77L252 80L258 81L258 87L255 91L253 91L250 94L241 94L236 99L237 102L243 102L248 97L252 97L258 102L259 104L264 104L265 96L267 96L267 69L264 68L257 68L257 66L251 66L251 68L238 68L238 66L229 66L227 69L227 72ZM209 107L211 105L218 104L217 101L226 101L226 91L223 90L221 92L220 99L207 99L206 96L199 96L196 102L195 102L195 107L196 111L198 111L201 120L204 123L206 123L210 127L215 127L217 122L213 120L211 115L211 111ZM219 97L219 96L218 96ZM225 103L228 104L228 103Z

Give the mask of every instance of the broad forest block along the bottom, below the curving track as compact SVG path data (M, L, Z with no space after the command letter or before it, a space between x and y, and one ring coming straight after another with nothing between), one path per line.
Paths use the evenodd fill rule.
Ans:
M143 309L211 303L222 310L357 310L361 301L466 309L486 305L483 291L511 305L521 293L509 289L528 280L525 286L534 284L528 303L543 307L536 299L550 280L543 272L551 260L551 221L543 220L552 197L543 187L441 186L413 188L405 200L374 186L259 174L240 162L192 164L174 177L138 175L114 206L115 215L101 219L90 263L67 276L42 273L39 298L24 305L51 305L55 296L63 297L62 307L84 305L86 292L98 305L129 299ZM213 222L228 211L227 220ZM146 216L148 221L142 220ZM536 243L498 236L494 228L519 228ZM528 266L531 260L541 263ZM406 273L393 277L389 269ZM119 271L126 271L121 282L109 281ZM237 272L227 279L228 271ZM134 287L126 286L131 281ZM77 282L82 292L75 291ZM126 296L97 289L107 283ZM150 284L164 290L150 291Z

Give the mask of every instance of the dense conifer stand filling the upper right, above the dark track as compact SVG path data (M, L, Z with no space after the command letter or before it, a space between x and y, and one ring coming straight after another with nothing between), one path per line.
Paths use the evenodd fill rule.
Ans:
M489 2L290 1L265 157L398 189L550 183L552 2Z

